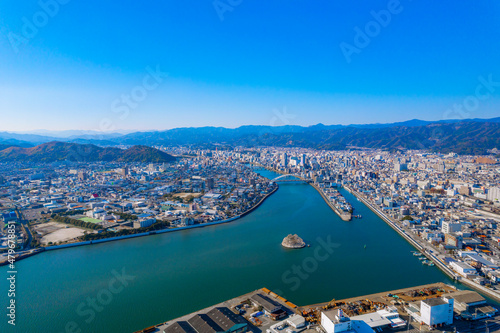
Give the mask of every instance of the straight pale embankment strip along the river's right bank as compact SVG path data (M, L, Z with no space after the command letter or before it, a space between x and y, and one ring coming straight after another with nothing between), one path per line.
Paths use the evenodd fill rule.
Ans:
M405 240L407 240L413 247L415 247L417 250L419 250L427 259L431 260L436 264L436 267L438 267L443 273L448 275L450 278L459 281L476 291L480 293L484 293L488 295L489 297L493 298L494 300L500 302L500 293L495 292L493 290L490 290L486 287L481 286L478 283L475 283L474 281L471 281L467 278L463 278L454 271L452 271L450 268L448 268L436 255L431 253L424 245L422 245L422 242L419 240L414 239L410 235L406 233L405 230L401 229L395 222L393 222L387 215L385 215L378 207L375 207L371 202L368 201L368 199L364 198L359 192L353 191L350 188L345 187L345 189L354 195L356 198L358 198L363 204L365 204L371 211L373 211L375 214L377 214L384 222L386 222L392 229L394 229L400 236L402 236Z

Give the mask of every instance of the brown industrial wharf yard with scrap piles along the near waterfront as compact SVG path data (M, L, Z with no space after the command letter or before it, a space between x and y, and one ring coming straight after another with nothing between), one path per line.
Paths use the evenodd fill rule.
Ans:
M242 323L248 324L246 331L252 333L324 333L326 330L321 326L322 312L338 309L342 310L344 316L355 318L356 316L373 315L376 311L391 308L395 312L397 311L402 319L401 322L403 322L404 327L398 326L398 330L420 332L435 329L446 332L444 327L430 328L420 322L408 321L409 316L405 311L405 306L418 301L437 299L443 295L453 297L453 294L461 295L464 292L467 291L457 290L455 287L444 283L433 283L342 300L333 299L330 302L299 307L273 291L261 288L195 313L148 327L137 333L171 333L175 331L175 322L192 321L193 316L203 316L218 307L226 307L227 311L233 312L234 315L241 318ZM300 324L301 321L302 324ZM500 318L494 316L487 319L486 325L488 325L488 322L490 332L500 332ZM485 329L485 326L481 326L484 325L484 321L472 323L461 320L454 323L454 325L455 328L460 328L460 332L479 333L484 332ZM288 329L285 330L286 327ZM377 329L374 332L391 330L393 331L388 327Z

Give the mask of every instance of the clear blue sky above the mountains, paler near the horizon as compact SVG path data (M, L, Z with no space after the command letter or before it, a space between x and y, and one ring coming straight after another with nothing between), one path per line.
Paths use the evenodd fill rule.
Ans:
M500 116L498 1L56 1L0 2L0 131Z

